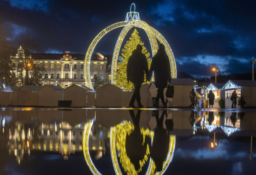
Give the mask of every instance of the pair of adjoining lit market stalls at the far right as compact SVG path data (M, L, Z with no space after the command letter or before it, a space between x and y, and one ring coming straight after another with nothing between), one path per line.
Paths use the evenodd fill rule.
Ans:
M213 108L219 108L218 100L223 99L225 102L225 108L231 108L232 101L230 100L231 94L236 90L237 96L244 97L244 107L256 107L256 81L254 80L229 80L227 83L211 83L204 90L206 93L206 99L209 91L215 95ZM237 98L238 100L239 98ZM238 103L237 103L238 104ZM237 106L240 108L240 106Z

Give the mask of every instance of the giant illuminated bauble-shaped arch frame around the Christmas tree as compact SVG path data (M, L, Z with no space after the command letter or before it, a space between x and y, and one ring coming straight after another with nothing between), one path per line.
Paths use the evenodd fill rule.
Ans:
M132 6L134 6L134 11L132 12ZM151 51L152 55L154 56L157 53L158 49L158 44L157 40L165 45L165 51L167 53L167 56L169 57L170 61L170 68L171 68L171 77L176 78L177 73L176 73L176 63L175 59L173 56L172 49L170 48L169 44L165 40L165 38L153 27L150 27L146 22L141 21L139 17L139 13L135 12L135 4L131 5L130 12L127 13L127 16L125 18L125 21L118 22L115 24L110 25L109 27L103 29L91 42L89 48L87 49L86 52L86 57L84 61L84 79L85 79L85 84L87 87L93 89L93 85L91 84L91 78L90 78L90 59L91 55L93 54L93 50L99 40L109 31L112 31L113 29L119 28L119 27L124 27L123 30L121 31L117 42L116 46L114 48L114 53L113 53L113 59L112 59L112 67L111 67L111 83L116 84L117 82L114 81L114 76L117 68L117 59L118 59L118 54L120 51L121 44L124 40L125 35L127 32L132 28L132 27L138 27L142 28L148 36L148 39L150 41L151 45Z

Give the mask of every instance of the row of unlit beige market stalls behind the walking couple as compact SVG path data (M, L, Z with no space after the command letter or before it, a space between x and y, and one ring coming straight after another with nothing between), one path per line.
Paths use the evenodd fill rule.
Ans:
M189 92L196 83L191 79L172 79L171 82L174 86L174 97L166 98L165 96L165 100L168 101L167 106L188 107L191 104ZM43 87L8 86L0 92L0 104L58 107L60 102L70 102L70 107L128 107L132 95L132 91L125 92L112 84L103 85L95 91L76 84L65 89L54 85L44 85ZM155 83L143 84L140 96L144 107L152 107L153 100L157 96Z

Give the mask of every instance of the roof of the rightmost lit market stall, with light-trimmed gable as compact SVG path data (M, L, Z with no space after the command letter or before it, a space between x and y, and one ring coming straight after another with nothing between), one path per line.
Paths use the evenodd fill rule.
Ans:
M229 80L221 89L222 90L240 89L241 87L256 87L256 81L254 81L254 80Z

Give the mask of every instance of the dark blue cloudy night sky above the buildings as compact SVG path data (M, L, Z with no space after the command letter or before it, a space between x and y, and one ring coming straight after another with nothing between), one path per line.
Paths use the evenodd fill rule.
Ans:
M28 36L37 43L34 52L86 53L99 32L125 20L132 3L140 20L169 43L177 71L197 78L214 76L213 67L221 75L252 72L255 0L0 0L1 27L15 49ZM120 31L104 36L94 53L112 55ZM138 31L151 52L146 34Z

